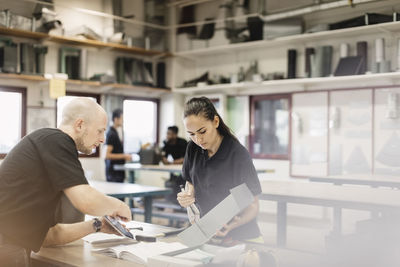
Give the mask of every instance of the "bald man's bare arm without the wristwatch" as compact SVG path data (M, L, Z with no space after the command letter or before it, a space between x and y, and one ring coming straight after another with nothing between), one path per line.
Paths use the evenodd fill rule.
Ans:
M64 189L72 205L84 214L93 216L119 216L125 221L132 219L130 208L122 201L100 193L88 184Z

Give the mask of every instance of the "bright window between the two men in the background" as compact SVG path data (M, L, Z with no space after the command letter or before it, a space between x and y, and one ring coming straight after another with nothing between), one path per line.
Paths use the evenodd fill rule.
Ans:
M124 150L137 153L141 145L158 143L158 100L124 100Z

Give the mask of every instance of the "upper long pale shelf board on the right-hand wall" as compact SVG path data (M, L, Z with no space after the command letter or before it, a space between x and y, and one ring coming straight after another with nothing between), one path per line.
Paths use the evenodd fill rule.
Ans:
M214 56L216 54L230 54L238 53L242 51L251 51L253 49L262 49L268 47L279 47L283 45L304 45L319 40L328 40L329 38L339 37L339 38L354 38L356 36L363 35L373 35L373 34L393 34L395 32L400 32L400 22L388 22L380 23L374 25L353 27L340 30L323 31L315 33L303 33L291 36L279 37L273 40L260 40L253 42L245 42L238 44L229 44L214 46L190 51L175 52L175 56L181 57L204 57L204 56Z

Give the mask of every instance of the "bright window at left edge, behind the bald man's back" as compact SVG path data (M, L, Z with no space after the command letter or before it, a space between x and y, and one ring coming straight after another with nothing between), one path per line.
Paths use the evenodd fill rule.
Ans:
M0 87L0 158L26 134L26 90Z

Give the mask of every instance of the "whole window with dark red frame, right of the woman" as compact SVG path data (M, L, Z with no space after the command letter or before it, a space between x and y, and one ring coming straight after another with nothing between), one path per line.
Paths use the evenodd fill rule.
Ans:
M250 101L252 156L289 159L290 96L253 96Z

